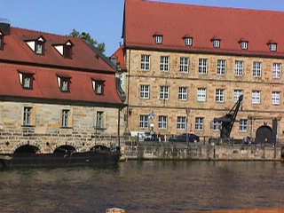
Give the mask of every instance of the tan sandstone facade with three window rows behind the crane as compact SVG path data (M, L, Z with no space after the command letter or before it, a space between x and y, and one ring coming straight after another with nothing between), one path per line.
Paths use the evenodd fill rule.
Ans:
M141 69L141 56L150 56L149 71ZM169 56L170 70L161 71L161 57ZM180 72L180 58L189 59L187 73ZM199 74L199 59L207 59L206 75ZM217 60L225 60L225 75L217 75ZM236 60L243 61L244 74L235 75ZM126 131L150 131L163 135L193 131L204 137L218 137L219 130L213 130L213 119L229 112L235 103L234 91L243 91L244 101L234 124L232 137L256 137L256 130L262 125L272 127L272 118L278 120L277 138L284 139L283 76L273 78L273 64L282 66L283 59L239 57L233 55L182 53L174 51L127 50L125 61L128 69L126 93ZM261 76L253 76L254 62L261 62ZM281 72L281 71L280 71ZM282 75L282 74L281 74ZM141 99L140 85L149 85L149 99ZM170 88L169 99L160 98L160 86ZM188 90L187 100L178 99L179 87ZM197 100L198 88L206 89L206 101ZM217 103L217 89L224 90L224 102ZM260 104L252 104L252 92L260 91ZM280 93L280 104L272 104L272 92ZM153 114L146 128L141 128L140 115ZM159 128L159 115L167 116L167 128ZM177 116L186 117L188 125L184 130L177 129ZM203 118L203 129L195 128L196 118ZM240 130L240 120L247 121L246 130Z

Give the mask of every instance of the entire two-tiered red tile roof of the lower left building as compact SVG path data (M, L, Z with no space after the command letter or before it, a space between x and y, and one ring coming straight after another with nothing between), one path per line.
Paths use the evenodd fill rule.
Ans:
M36 55L24 42L39 36L46 40L43 56ZM63 58L52 46L54 43L66 43L68 40L74 44L72 59ZM4 43L4 51L0 51L1 99L43 99L122 106L114 68L83 40L12 28L11 35L4 36ZM33 90L22 88L19 72L33 74ZM59 90L58 75L71 77L70 92ZM103 95L93 91L92 79L104 81Z

